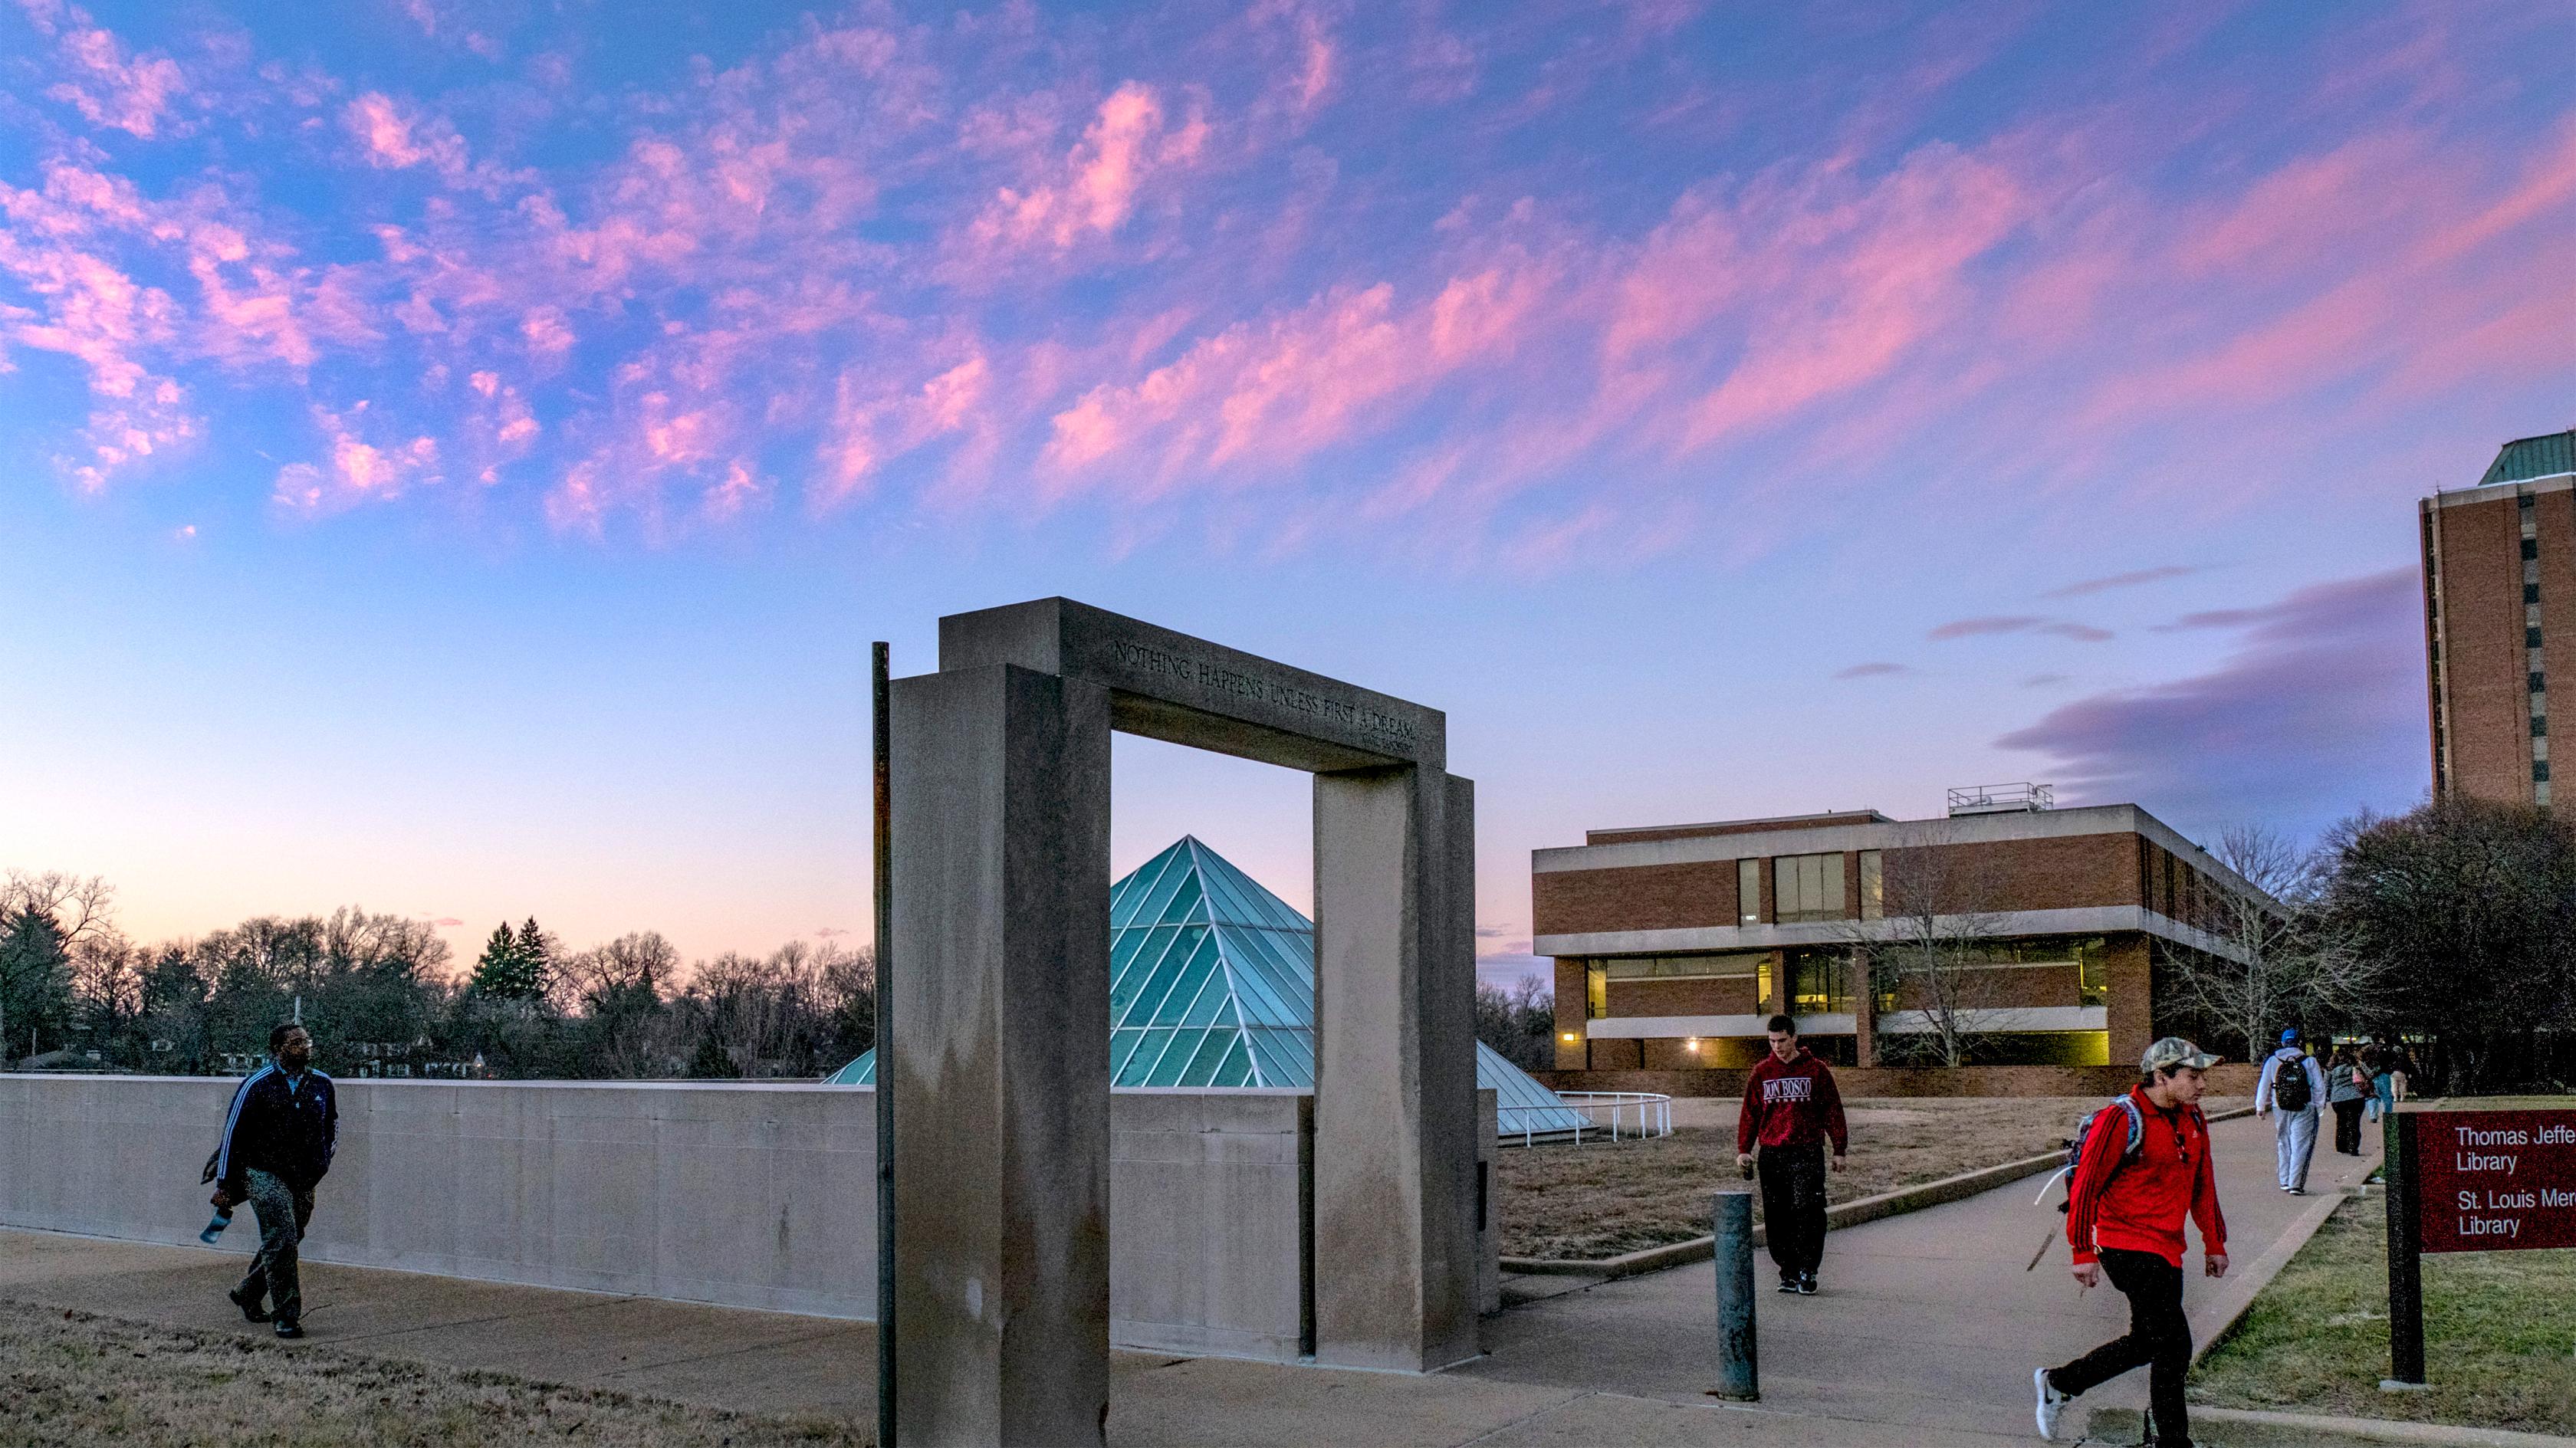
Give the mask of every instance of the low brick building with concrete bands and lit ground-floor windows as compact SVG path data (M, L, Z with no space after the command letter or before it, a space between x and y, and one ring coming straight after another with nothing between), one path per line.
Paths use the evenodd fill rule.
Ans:
M1847 1067L2133 1064L2159 966L2280 907L2136 804L1981 786L1942 819L1592 830L1530 853L1530 910L1558 1072L1690 1072L1759 1062L1775 1013Z

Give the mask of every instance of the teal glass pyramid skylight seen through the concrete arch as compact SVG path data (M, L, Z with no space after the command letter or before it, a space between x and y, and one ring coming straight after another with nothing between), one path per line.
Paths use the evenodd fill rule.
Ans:
M1314 925L1195 835L1110 886L1110 1085L1314 1090ZM1476 1085L1512 1136L1589 1126L1484 1041Z

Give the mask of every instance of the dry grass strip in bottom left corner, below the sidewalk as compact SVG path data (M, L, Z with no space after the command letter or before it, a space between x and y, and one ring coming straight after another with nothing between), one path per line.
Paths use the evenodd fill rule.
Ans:
M0 1301L0 1448L788 1448L873 1440L873 1425L747 1417L355 1358L312 1342L139 1327Z

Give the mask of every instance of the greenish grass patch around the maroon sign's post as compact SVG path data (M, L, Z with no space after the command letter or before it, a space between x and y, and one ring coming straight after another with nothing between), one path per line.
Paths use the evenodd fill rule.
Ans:
M2563 1098L2561 1098L2563 1100ZM2354 1198L2300 1247L2236 1335L2192 1371L2192 1402L2576 1433L2576 1250L2424 1257L2424 1376L2388 1373L2388 1201Z

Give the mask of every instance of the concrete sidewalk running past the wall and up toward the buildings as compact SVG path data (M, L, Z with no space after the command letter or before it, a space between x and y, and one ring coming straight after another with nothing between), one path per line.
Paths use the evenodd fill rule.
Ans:
M2241 1268L2269 1260L2277 1270L2298 1229L2321 1219L2339 1188L2360 1183L2370 1167L2326 1152L2311 1177L2318 1196L2285 1198L2272 1188L2269 1152L2264 1123L2218 1126L2221 1201ZM1118 1353L1110 1443L2027 1443L2030 1368L2115 1337L2125 1317L2107 1288L2076 1293L2061 1242L2038 1270L2022 1270L2061 1221L2030 1203L2035 1190L2038 1183L2017 1183L1834 1234L1824 1296L1765 1296L1759 1304L1759 1404L1705 1396L1716 1381L1716 1288L1703 1262L1605 1286L1546 1281L1553 1296L1486 1322L1486 1358L1422 1378ZM330 1208L327 1196L322 1208ZM265 1337L222 1296L240 1257L237 1250L0 1232L0 1299ZM2257 1286L2192 1278L2195 1322L2208 1332ZM319 1348L742 1412L873 1417L876 1335L863 1322L335 1265L307 1265L304 1291L307 1327ZM2143 1373L2136 1378L2097 1391L2084 1407L2143 1404Z

